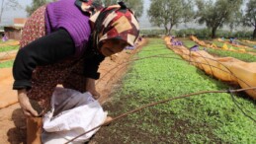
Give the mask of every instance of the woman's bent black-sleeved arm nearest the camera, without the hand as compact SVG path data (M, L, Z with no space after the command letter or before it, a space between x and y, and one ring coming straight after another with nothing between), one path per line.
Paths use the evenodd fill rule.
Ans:
M62 29L29 43L17 53L13 66L13 89L30 89L32 72L37 66L52 64L72 56L74 52L71 36Z

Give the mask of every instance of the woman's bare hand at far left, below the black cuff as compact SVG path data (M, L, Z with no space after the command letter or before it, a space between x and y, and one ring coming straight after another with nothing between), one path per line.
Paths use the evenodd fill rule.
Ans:
M39 116L39 113L32 108L26 89L18 90L18 101L26 116Z

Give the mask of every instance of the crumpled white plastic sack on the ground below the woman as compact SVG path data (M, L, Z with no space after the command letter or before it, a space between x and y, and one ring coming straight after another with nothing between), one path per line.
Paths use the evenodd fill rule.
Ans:
M51 110L43 116L43 144L65 143L68 140L102 124L107 117L92 95L75 90L56 88L51 98ZM95 129L74 140L84 143Z

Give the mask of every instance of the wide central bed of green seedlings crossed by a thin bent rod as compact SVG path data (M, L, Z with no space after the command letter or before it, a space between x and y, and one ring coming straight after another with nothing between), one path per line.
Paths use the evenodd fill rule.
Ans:
M162 39L150 42L138 58L168 54L173 58L147 58L133 63L112 101L104 108L117 116L143 105L199 91L229 86L205 75L164 48ZM176 59L175 59L176 58ZM255 118L255 103L234 96ZM247 111L248 112L248 111ZM228 94L207 94L145 108L102 127L91 142L109 143L256 143L256 125L235 107Z

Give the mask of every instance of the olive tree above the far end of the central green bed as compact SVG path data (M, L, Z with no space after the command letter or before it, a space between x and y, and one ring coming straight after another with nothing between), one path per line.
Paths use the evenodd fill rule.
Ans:
M151 0L147 11L149 22L164 27L165 35L170 35L174 26L190 22L194 18L192 0Z

